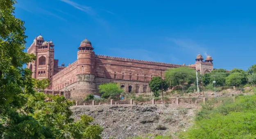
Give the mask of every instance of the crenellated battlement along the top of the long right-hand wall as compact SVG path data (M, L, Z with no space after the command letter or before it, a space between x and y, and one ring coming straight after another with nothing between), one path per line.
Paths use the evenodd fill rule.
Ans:
M171 64L171 63L163 63L163 62L155 62L155 61L143 61L138 59L131 59L131 58L120 58L116 56L104 56L104 55L95 55L96 58L105 58L105 59L113 59L118 61L129 61L129 62L136 62L136 63L145 63L145 64L154 64L154 65L165 65L165 66L172 66L172 67L190 67L189 65L179 65L179 64ZM192 67L194 68L194 67Z

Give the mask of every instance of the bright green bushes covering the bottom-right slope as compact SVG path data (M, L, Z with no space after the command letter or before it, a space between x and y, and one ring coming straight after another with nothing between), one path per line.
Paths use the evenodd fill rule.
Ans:
M236 103L217 108L203 105L195 124L180 139L254 139L256 138L256 95L239 96Z

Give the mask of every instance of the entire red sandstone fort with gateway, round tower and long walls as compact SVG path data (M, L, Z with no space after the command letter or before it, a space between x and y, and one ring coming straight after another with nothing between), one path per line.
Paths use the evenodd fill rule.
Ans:
M161 70L175 67L191 67L201 73L213 70L213 59L207 56L203 61L198 54L193 65L178 65L130 58L97 55L91 42L83 40L78 47L77 61L64 67L58 66L54 59L52 41L43 40L40 35L27 49L36 55L36 61L27 64L33 78L50 80L49 90L70 91L71 98L84 98L89 93L99 94L97 86L102 83L117 82L125 92L150 92L149 81L154 76L161 76Z

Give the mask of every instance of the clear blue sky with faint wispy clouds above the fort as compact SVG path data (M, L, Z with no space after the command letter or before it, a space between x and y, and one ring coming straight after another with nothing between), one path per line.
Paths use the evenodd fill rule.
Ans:
M256 64L256 2L231 0L17 0L27 46L52 40L59 65L77 59L86 37L96 54L214 68Z

